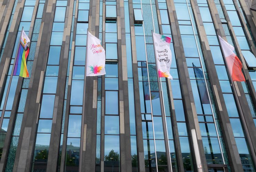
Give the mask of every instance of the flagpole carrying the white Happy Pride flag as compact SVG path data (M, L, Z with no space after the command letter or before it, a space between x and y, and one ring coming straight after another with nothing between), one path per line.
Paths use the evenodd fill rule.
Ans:
M80 158L79 158L79 169L78 171L82 171L82 154L83 154L83 150L85 150L85 148L83 147L83 141L84 141L84 115L85 115L85 89L86 89L86 72L87 72L87 58L88 58L88 34L89 33L89 29L87 29L87 37L86 37L86 52L85 52L85 69L84 69L84 89L83 89L83 106L82 106L82 125L81 125L81 139L80 139ZM86 137L86 136L85 136Z

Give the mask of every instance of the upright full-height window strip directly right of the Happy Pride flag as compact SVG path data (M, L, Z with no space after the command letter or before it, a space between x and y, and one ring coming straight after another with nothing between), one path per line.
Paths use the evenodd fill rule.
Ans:
M105 1L104 171L120 171L120 114L116 1ZM102 87L103 88L103 87ZM103 134L103 133L102 133ZM102 161L102 160L101 160Z

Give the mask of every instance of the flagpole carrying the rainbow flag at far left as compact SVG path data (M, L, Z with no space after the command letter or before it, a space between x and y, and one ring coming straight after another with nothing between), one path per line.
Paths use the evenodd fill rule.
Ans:
M22 26L22 29L21 29L20 39L19 39L16 55L15 55L13 66L12 66L12 72L11 72L10 80L9 80L9 83L8 83L8 87L7 87L7 91L6 91L6 96L5 96L5 99L4 99L3 110L2 110L2 114L1 114L1 120L0 120L0 126L2 126L2 123L3 123L3 116L4 116L4 113L5 113L5 110L6 110L7 100L8 100L8 96L9 96L9 92L10 92L10 88L11 88L12 76L13 76L13 71L14 71L15 63L17 61L17 55L18 55L18 51L19 51L22 31L23 31L23 26ZM11 59L10 59L10 61L11 61ZM7 71L7 78L8 78L8 71Z

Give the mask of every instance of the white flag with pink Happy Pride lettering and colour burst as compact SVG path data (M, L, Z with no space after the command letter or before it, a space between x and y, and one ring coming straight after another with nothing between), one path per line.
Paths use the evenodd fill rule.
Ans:
M90 32L87 35L87 61L86 76L105 75L105 50L101 46L101 40Z

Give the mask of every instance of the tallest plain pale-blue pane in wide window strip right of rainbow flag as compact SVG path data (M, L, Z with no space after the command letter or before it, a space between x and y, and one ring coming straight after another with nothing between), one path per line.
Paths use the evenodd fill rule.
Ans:
M44 94L42 97L40 118L52 118L55 95Z

